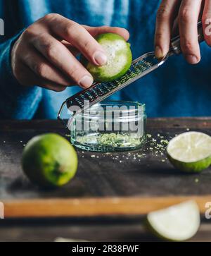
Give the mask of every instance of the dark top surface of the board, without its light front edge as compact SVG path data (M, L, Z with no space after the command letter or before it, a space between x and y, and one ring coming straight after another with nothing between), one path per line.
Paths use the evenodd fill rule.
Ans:
M186 129L200 130L211 135L211 119L157 119L148 121L147 133L153 138L169 140ZM77 176L64 188L40 190L25 178L20 166L23 145L34 135L56 132L68 133L57 121L0 123L0 195L6 199L53 197L119 197L158 195L210 195L211 169L200 174L175 170L165 155L155 154L148 145L138 152L101 154L78 152ZM146 157L137 157L146 154ZM95 156L95 157L93 157ZM162 160L165 160L162 162ZM196 179L198 178L198 183Z

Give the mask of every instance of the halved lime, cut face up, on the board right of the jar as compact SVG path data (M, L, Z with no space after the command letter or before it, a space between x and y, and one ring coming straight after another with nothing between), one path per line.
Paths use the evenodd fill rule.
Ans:
M167 156L181 171L203 171L211 164L211 137L198 132L182 133L170 140Z

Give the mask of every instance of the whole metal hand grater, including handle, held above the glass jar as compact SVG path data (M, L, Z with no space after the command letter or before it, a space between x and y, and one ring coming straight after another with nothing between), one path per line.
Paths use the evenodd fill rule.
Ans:
M203 42L203 40L203 26L202 23L199 22L198 41ZM171 40L170 51L163 59L157 59L155 57L154 51L143 54L143 56L140 56L138 59L135 59L132 62L132 66L131 68L129 68L129 71L127 71L127 73L121 78L118 78L117 80L114 80L110 83L94 83L88 89L82 90L81 92L78 92L72 97L66 99L60 107L60 110L58 112L58 119L60 121L63 121L66 128L70 127L72 121L75 118L75 115L81 113L90 106L101 102L103 99L106 99L110 95L113 95L113 93L122 90L124 87L134 83L136 80L142 78L144 75L151 73L155 69L162 66L162 64L165 63L165 61L167 61L170 56L180 53L180 37L177 36ZM86 102L89 102L89 104L86 104ZM65 123L65 121L61 118L61 114L65 105L68 109L70 109L71 106L77 106L77 111L72 112L72 116L68 124Z

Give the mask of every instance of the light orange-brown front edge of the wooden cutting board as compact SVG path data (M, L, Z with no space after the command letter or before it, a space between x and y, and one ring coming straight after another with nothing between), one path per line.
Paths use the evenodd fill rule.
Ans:
M158 209L195 200L201 214L211 195L200 197L113 197L88 199L16 200L4 202L6 218L20 217L96 217L143 215Z

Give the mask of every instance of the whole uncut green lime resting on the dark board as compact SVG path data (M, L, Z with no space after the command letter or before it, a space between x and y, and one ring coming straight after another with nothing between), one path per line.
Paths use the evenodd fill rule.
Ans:
M60 187L77 171L77 153L68 140L55 133L32 138L22 157L27 177L42 187Z

